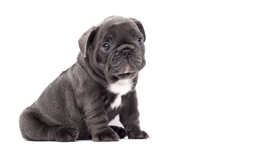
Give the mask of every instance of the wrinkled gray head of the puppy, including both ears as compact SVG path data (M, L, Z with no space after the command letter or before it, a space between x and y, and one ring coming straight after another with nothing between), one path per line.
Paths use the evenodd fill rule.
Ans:
M145 66L145 31L140 21L111 16L79 39L82 55L105 76L128 79Z

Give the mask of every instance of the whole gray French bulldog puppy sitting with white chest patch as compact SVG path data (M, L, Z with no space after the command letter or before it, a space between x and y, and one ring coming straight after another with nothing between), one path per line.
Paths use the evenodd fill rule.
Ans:
M77 62L24 109L22 137L33 141L145 139L135 86L145 66L145 31L134 18L111 16L79 39ZM108 126L119 115L125 127Z

